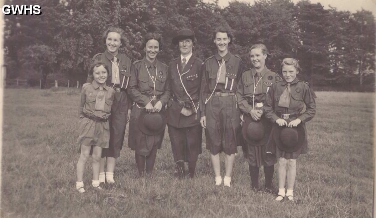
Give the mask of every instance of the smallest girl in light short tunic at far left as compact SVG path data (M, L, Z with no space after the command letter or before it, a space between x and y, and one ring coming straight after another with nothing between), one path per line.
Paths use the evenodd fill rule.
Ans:
M89 74L94 77L92 83L85 83L82 86L79 106L79 137L77 143L80 145L80 159L77 162L76 189L80 193L85 192L83 188L83 173L85 164L88 161L92 147L92 186L102 189L99 186L99 168L102 148L109 146L109 122L111 105L114 100L115 91L106 85L108 67L103 62L94 62Z

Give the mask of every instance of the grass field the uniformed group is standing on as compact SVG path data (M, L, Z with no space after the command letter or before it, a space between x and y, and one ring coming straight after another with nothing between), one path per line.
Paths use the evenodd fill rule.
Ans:
M154 175L138 179L134 152L127 146L128 129L115 170L116 185L106 186L105 191L90 188L89 160L86 192L79 194L75 189L79 95L5 89L0 216L371 217L374 93L317 92L317 97L317 114L307 125L309 153L298 159L296 202L291 203L275 202L275 196L250 189L240 147L231 188L214 185L205 149L196 179L176 179L167 131ZM261 170L261 186L263 174Z

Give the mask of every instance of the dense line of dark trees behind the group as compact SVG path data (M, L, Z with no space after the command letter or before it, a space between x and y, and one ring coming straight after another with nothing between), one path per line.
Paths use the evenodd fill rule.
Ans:
M7 0L22 5L21 0ZM324 9L302 0L258 0L253 5L202 0L29 0L40 5L40 16L6 16L4 32L7 78L65 78L85 82L94 54L105 51L102 33L122 28L127 43L120 52L133 61L143 58L147 32L162 35L158 59L168 63L179 55L171 39L182 28L194 31L194 53L205 60L215 52L212 31L221 25L233 33L229 50L247 67L249 48L263 43L269 49L266 65L280 73L285 57L300 60L300 80L316 89L372 91L375 80L375 20L370 11L355 13Z

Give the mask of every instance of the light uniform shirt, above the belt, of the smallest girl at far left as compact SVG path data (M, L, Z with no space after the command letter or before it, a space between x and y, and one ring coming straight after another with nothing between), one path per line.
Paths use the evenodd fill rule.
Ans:
M100 118L108 118L110 116L111 105L115 96L115 90L107 86L106 84L103 86L103 92L105 92L105 111L98 111L94 109L98 92L99 84L97 83L97 81L94 80L92 81L92 83L83 84L79 104L80 118L84 117L84 114Z

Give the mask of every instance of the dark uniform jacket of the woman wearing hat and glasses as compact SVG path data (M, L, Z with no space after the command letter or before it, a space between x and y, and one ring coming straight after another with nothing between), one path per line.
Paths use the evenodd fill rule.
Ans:
M178 71L179 69L179 71ZM167 104L167 123L176 128L190 127L200 125L200 109L194 113L194 107L191 99L186 94L182 82L193 99L194 105L199 106L200 84L202 78L203 62L194 55L186 63L182 69L180 56L172 60L168 66L170 75L171 99ZM179 75L180 72L180 75ZM180 80L181 78L181 80ZM193 111L191 116L184 116L180 113L183 107ZM201 105L200 105L201 107Z

